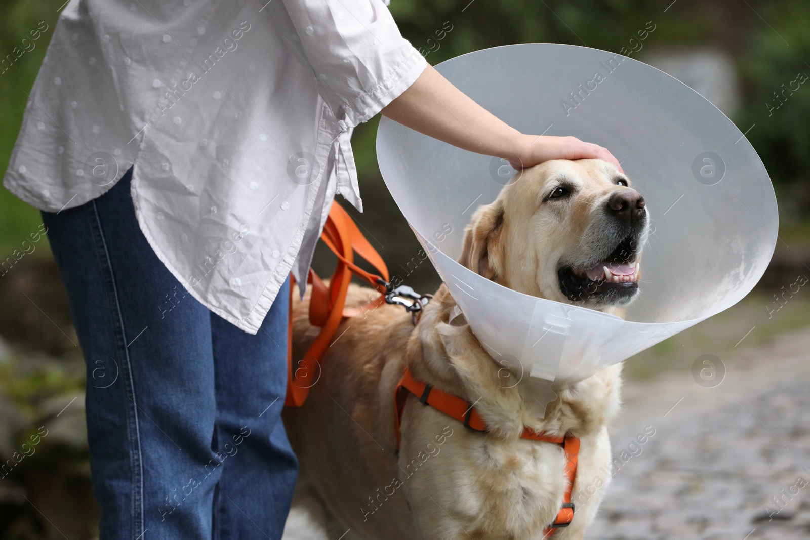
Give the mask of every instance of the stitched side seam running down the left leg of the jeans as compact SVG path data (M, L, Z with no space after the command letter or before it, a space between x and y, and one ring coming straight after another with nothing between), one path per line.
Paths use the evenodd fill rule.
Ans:
M124 353L124 360L126 362L126 384L124 388L126 389L127 398L129 398L132 406L127 405L129 409L128 421L127 421L127 431L129 433L129 440L130 442L134 442L135 449L130 450L130 461L133 461L133 471L136 478L133 478L132 484L132 512L133 512L133 523L135 525L134 530L134 537L133 538L141 538L143 537L143 458L141 456L141 441L140 441L140 430L139 430L139 421L138 421L138 404L135 402L135 388L134 388L134 379L132 376L132 366L130 364L130 351L128 346L126 345L126 330L124 330L124 317L121 311L121 302L118 298L118 289L115 281L115 273L113 272L113 261L109 255L109 249L107 249L107 240L104 238L104 228L101 226L101 219L99 216L98 206L96 206L96 200L92 200L92 208L93 208L93 217L95 218L95 225L93 228L93 232L96 236L97 246L100 249L100 258L102 259L101 267L102 272L105 274L104 279L109 280L109 284L112 287L108 288L108 291L111 292L112 300L113 300L113 327L117 326L118 332L117 337L122 339L122 342L119 344L121 349ZM106 272L104 272L106 270ZM129 419L132 419L131 423ZM134 433L132 432L132 426L134 425Z

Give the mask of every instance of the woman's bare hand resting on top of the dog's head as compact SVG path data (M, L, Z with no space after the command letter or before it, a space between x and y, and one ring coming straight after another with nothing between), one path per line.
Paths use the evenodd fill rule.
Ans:
M514 147L514 154L501 157L509 159L509 164L518 171L550 159L602 159L616 165L619 172L624 172L607 148L576 137L519 134Z

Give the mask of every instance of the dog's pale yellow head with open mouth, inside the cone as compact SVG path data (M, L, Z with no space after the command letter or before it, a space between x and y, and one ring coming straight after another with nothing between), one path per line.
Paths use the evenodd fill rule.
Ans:
M547 161L475 211L458 262L515 291L608 310L638 294L649 222L612 164Z

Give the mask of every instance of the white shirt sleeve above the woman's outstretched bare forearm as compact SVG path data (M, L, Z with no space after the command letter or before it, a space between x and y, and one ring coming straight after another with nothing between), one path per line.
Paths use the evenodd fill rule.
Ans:
M349 127L379 113L427 66L382 0L283 0L283 7L294 32L288 44Z

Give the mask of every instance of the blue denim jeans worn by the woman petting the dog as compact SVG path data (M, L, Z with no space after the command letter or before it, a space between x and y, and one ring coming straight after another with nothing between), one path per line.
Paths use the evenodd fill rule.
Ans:
M289 283L255 336L211 313L147 244L131 177L42 213L87 364L100 538L281 538Z

